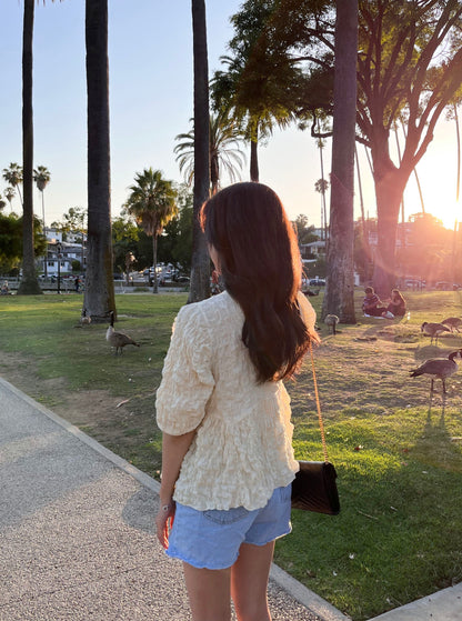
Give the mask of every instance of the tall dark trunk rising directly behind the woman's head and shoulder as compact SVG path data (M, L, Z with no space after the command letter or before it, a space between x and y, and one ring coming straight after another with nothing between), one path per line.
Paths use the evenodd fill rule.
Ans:
M199 213L209 198L210 188L209 66L204 0L192 0L191 10L194 54L194 202L191 289L188 302L198 302L210 296L209 251L199 223Z

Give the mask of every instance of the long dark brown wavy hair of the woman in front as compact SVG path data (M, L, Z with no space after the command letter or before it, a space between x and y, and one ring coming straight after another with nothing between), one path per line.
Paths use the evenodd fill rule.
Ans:
M229 186L203 204L201 226L244 313L242 341L258 380L292 377L313 335L300 314L300 252L279 197L262 183Z

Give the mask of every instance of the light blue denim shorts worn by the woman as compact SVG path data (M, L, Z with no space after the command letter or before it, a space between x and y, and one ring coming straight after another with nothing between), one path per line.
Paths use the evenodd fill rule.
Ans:
M195 568L234 564L242 543L264 545L291 532L291 485L277 488L262 509L198 511L177 502L167 554Z

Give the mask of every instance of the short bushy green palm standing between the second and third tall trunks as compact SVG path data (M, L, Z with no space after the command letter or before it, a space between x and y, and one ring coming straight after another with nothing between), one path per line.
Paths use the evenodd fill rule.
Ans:
M125 209L148 236L152 236L154 282L152 292L158 293L158 237L165 224L177 214L177 190L173 182L162 178L160 170L152 168L138 172L135 184L130 187Z

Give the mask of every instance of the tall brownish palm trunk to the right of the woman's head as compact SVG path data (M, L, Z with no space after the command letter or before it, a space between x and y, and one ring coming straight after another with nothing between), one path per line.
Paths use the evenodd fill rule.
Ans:
M322 317L355 323L353 276L358 0L337 0L328 278Z

